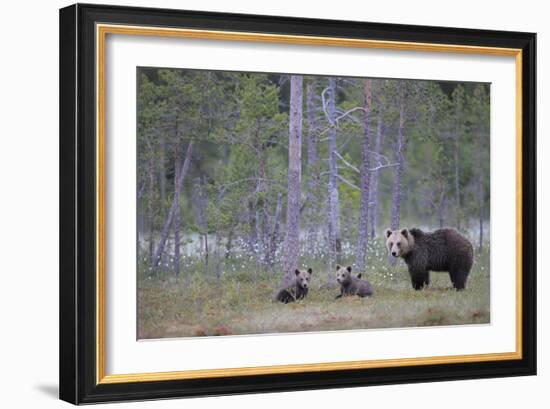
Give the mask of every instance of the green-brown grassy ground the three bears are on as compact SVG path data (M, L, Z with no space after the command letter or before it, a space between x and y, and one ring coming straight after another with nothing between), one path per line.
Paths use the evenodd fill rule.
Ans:
M451 288L448 273L431 273L422 291L410 285L402 261L388 267L385 254L371 260L365 277L374 286L370 298L336 300L339 287L328 289L327 270L314 268L305 300L282 304L272 300L280 272L204 273L184 277L169 273L138 280L138 337L194 337L260 333L423 327L490 322L489 257L482 254L467 289ZM182 274L183 275L183 274Z

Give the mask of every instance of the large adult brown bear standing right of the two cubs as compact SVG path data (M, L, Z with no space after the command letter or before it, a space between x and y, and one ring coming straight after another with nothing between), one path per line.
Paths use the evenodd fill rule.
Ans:
M472 243L454 229L423 232L420 229L386 231L386 246L394 257L401 257L409 268L415 290L430 284L430 271L449 272L457 290L466 287L474 262Z

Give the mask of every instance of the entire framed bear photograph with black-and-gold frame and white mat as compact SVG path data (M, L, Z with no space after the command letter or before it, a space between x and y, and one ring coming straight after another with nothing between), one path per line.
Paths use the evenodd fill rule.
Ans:
M534 375L535 54L61 9L61 399Z

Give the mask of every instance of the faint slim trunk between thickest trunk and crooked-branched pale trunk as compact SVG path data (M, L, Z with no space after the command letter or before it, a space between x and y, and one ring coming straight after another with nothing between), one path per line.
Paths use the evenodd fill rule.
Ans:
M315 200L315 191L317 189L317 134L315 124L315 80L310 80L307 84L307 122L308 122L308 136L307 136L307 173L308 173L308 187L307 187L307 252L310 256L314 254L315 246L317 242L317 226L316 216L319 205Z

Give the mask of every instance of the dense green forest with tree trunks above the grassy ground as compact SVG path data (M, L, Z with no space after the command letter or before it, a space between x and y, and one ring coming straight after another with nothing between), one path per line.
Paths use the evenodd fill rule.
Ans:
M137 87L147 276L361 271L386 227L488 243L489 84L140 68Z

